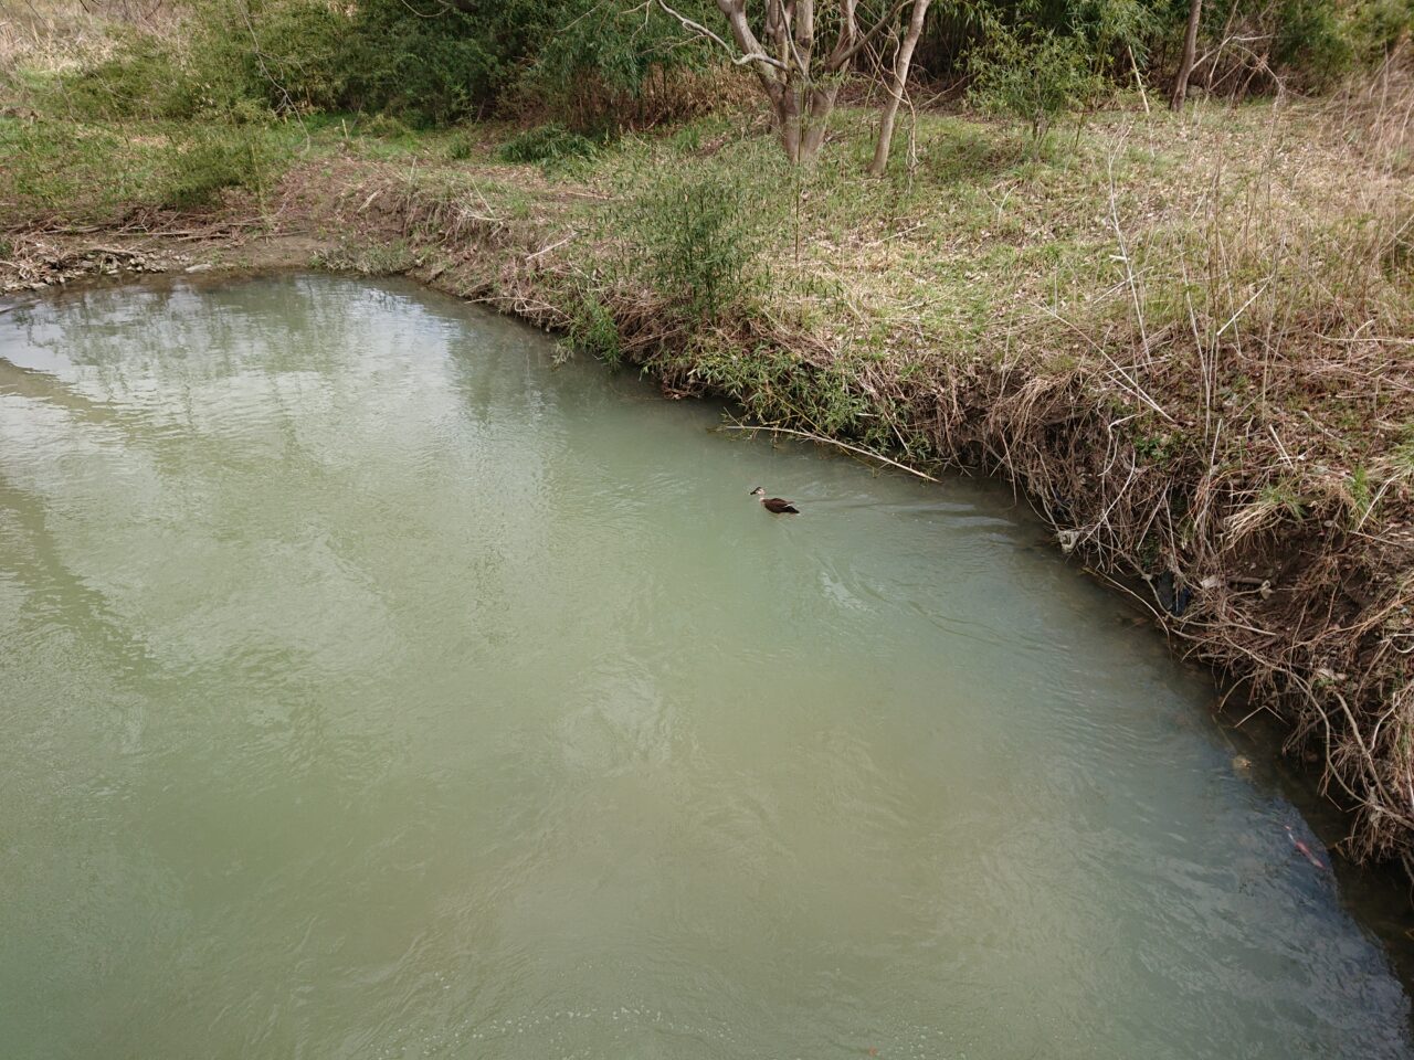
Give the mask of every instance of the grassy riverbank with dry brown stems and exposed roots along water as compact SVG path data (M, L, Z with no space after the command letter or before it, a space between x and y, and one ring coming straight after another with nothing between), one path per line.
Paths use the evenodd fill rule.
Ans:
M257 175L195 205L189 130L27 113L0 126L0 285L406 273L752 423L1004 475L1239 718L1281 718L1346 856L1408 865L1408 100L1394 72L1182 117L1134 98L1039 151L922 114L881 181L864 112L809 174L751 113L609 146L324 117L235 133Z

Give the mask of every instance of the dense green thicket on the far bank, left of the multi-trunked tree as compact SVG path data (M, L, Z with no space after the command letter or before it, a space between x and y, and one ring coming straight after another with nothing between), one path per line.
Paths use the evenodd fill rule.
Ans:
M699 10L703 0L683 0ZM658 13L605 0L185 0L180 40L127 31L62 79L92 117L188 119L240 100L277 113L352 109L419 127L493 112L518 88L578 129L622 124L662 72L700 62ZM711 13L717 17L717 13ZM662 95L662 93L659 93Z

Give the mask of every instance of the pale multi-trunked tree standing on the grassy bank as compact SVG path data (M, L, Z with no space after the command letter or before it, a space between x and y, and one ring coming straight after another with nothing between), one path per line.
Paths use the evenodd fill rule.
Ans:
M747 66L756 75L771 102L786 155L792 163L809 164L824 143L826 126L850 59L894 25L908 1L888 0L878 21L861 28L858 0L836 0L837 17L827 20L836 25L834 44L829 51L816 41L814 0L764 0L765 17L759 23L764 40L751 28L747 0L717 0L731 41L674 10L667 0L658 0L658 6L683 28L725 49L737 66Z

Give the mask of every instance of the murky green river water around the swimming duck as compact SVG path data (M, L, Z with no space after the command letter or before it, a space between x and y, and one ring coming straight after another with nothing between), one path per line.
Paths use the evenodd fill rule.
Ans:
M551 355L320 277L0 317L0 1054L1414 1052L1010 495Z

